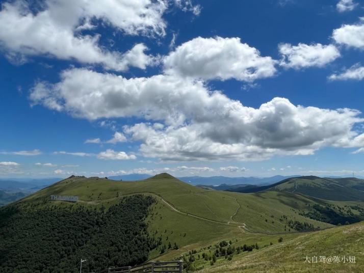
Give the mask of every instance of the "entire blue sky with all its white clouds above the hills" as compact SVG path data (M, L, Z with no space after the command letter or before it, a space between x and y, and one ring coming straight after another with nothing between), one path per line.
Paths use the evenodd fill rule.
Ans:
M0 24L2 178L364 175L363 1L11 1Z

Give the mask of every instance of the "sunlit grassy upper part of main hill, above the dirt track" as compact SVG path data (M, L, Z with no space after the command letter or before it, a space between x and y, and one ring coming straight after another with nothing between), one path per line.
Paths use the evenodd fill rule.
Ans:
M259 193L243 195L194 187L166 174L136 182L113 181L109 179L70 178L51 187L40 190L25 198L23 203L46 202L49 195L78 195L80 204L103 204L108 207L121 196L135 193L160 196L180 212L204 219L231 225L246 225L255 232L275 233L294 231L288 222L307 223L313 228L327 228L329 224L311 220L299 215L306 203L321 202L309 200L290 193ZM53 202L55 203L55 202ZM62 203L62 202L60 202ZM63 202L65 203L65 202ZM175 213L180 214L180 213ZM284 219L279 221L279 219ZM190 217L191 218L191 217Z

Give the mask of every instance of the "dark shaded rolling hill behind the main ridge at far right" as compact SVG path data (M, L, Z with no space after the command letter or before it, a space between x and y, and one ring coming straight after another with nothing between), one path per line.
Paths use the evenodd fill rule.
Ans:
M364 180L357 178L321 178L317 176L301 176L284 179L268 186L244 186L229 190L241 193L256 193L276 191L298 193L310 197L334 200L353 201L364 200Z

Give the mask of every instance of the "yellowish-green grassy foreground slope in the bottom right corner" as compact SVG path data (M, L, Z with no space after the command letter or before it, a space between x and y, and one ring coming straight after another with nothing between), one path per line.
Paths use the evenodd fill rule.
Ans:
M318 262L305 263L306 257L317 257ZM320 256L355 256L355 263L320 262ZM292 240L274 243L266 248L234 255L231 261L222 260L207 265L201 273L256 273L256 272L363 272L364 222L332 229L305 233Z

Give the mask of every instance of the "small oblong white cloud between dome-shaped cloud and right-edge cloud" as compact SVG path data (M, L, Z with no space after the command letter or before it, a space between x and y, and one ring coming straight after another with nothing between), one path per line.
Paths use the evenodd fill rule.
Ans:
M305 67L323 67L340 57L340 52L334 45L303 44L297 46L280 44L279 52L282 56L280 65L288 68L300 69Z

